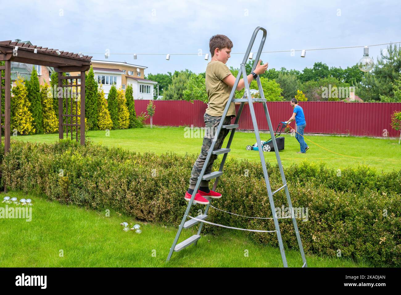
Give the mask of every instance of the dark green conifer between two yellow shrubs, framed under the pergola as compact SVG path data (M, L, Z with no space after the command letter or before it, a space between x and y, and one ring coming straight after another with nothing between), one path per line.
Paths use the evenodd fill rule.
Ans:
M38 72L34 66L32 66L30 81L26 81L26 93L30 102L29 111L32 114L33 125L36 129L36 133L43 133L41 87L39 84Z

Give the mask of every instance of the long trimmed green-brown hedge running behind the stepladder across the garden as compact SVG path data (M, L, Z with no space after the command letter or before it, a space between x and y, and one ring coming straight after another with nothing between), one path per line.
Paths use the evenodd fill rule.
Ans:
M4 146L3 146L4 150ZM178 226L187 202L192 165L198 155L135 153L71 140L36 144L12 140L2 160L2 184L26 193L86 208L113 208L144 221ZM219 169L218 158L213 171ZM60 176L63 169L63 176ZM277 165L267 163L273 189L280 187ZM245 176L247 173L248 176ZM308 208L308 220L297 219L306 253L365 258L375 266L401 266L401 171L378 173L359 166L337 170L304 162L285 169L294 207ZM221 199L213 205L244 216L271 217L261 163L228 159L219 181ZM284 191L275 207L288 207ZM191 216L203 205L194 205ZM387 217L383 216L387 210ZM247 219L211 208L209 221L252 229L274 230L271 220ZM279 221L283 242L298 244L291 219ZM205 224L205 232L221 228ZM277 246L275 233L250 233L255 242Z

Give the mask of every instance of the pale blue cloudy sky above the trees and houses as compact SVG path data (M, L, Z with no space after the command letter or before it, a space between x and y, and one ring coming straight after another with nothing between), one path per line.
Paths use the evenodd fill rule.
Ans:
M29 40L64 51L86 52L93 59L126 61L148 67L148 73L190 69L205 71L209 39L227 35L233 53L243 53L257 26L267 29L263 51L373 45L401 41L400 1L22 1L0 0L0 40ZM252 51L256 52L261 32ZM380 49L370 47L375 60ZM101 53L101 54L92 54ZM114 55L113 53L130 53ZM134 60L133 53L138 54ZM140 55L161 53L163 55ZM302 70L316 61L328 66L354 65L363 48L307 51L292 56L262 53L269 68ZM227 65L239 67L243 54ZM209 57L210 60L210 57Z

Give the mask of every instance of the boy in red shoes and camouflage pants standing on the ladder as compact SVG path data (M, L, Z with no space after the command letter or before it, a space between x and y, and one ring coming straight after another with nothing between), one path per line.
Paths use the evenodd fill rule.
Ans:
M229 129L222 128L217 138L215 138L217 126L222 119L224 108L230 98L230 93L235 83L235 77L226 65L228 59L230 58L230 52L233 48L233 42L225 35L215 35L211 37L209 41L209 48L212 59L207 64L205 76L206 92L209 98L209 104L206 109L205 115L203 116L205 120L206 130L205 136L203 138L201 153L199 154L198 159L195 161L194 166L192 167L189 188L188 191L186 191L185 193L184 199L186 199L187 201L191 199L192 193L196 186L196 182L198 181L198 177L201 174L203 165L205 164L205 160L213 140L216 141L214 150L221 149L224 139L230 131ZM268 63L260 65L260 62L261 60L258 61L255 71L247 75L247 80L249 84L253 79L256 79L257 75L265 73L268 67ZM242 90L244 87L244 80L241 79L236 90ZM235 104L241 103L231 103L227 112L227 116L223 118L223 125L230 124L231 119L235 117ZM217 155L211 155L210 161L206 167L205 174L211 173L213 162L216 159ZM212 191L209 189L209 181L210 180L201 181L198 193L196 193L194 198L194 203L209 204L209 201L203 196L216 199L221 197L221 193L217 193L216 191Z

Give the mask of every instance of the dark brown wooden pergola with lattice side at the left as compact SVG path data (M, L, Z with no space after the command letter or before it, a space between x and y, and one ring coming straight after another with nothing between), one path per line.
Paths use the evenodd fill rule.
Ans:
M16 48L18 47L18 48ZM35 50L36 49L36 50ZM36 53L35 53L36 52ZM71 139L73 139L73 127L75 127L75 138L78 141L78 128L80 132L80 142L85 145L85 71L89 70L91 65L91 56L79 56L77 53L68 51L59 51L58 49L48 49L47 47L38 47L26 43L18 43L9 41L0 41L0 61L5 61L4 66L0 66L0 81L5 80L2 87L0 83L0 93L5 90L4 98L4 114L0 116L0 126L4 128L4 154L10 150L10 108L11 108L11 61L19 63L28 63L31 65L44 65L54 67L58 73L58 87L65 89L70 87L67 93L78 93L80 87L81 93L81 114L78 115L78 100L69 95L65 99L65 114L63 114L63 96L59 99L59 139L63 139L63 126L66 126L66 134L68 138L68 129L71 128ZM4 75L3 75L4 72ZM81 72L77 76L63 76L63 73ZM78 79L81 83L78 84ZM75 80L75 84L74 84ZM73 87L76 87L73 89ZM57 91L58 93L58 91ZM63 91L64 93L64 91ZM70 101L69 101L70 100ZM70 104L70 108L69 105ZM75 106L75 110L74 110ZM1 100L0 100L1 110ZM74 112L75 111L75 112ZM4 125L2 124L4 117ZM75 122L74 122L75 118ZM80 119L78 122L78 118ZM64 122L65 119L65 122ZM70 120L69 120L70 119ZM0 144L1 132L0 128Z

